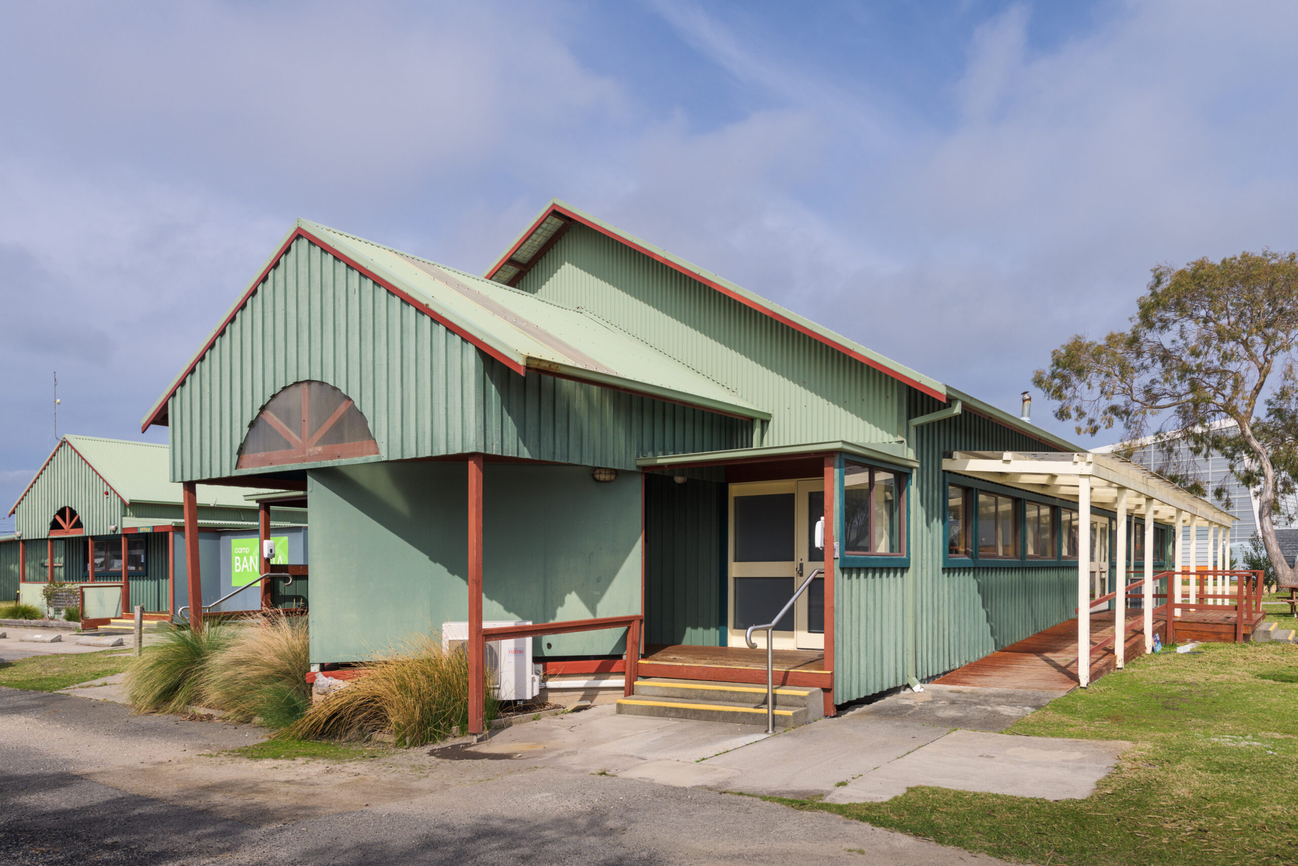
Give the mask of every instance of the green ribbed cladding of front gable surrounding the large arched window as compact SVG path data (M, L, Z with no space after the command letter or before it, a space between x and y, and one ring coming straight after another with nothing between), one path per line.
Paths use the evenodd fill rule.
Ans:
M234 474L262 405L304 379L356 402L383 460L483 452L635 470L637 457L752 440L749 421L519 375L300 238L171 397L171 479Z

